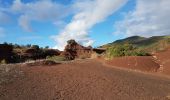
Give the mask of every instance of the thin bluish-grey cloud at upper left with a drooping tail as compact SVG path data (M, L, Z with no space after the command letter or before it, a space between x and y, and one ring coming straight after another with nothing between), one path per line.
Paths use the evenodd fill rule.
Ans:
M57 21L69 15L69 8L52 0L39 0L23 3L15 0L11 11L19 16L19 25L26 31L32 31L31 21Z

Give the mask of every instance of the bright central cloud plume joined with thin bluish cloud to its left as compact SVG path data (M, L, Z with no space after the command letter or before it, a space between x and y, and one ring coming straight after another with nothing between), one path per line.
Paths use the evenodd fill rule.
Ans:
M63 50L69 39L75 39L84 46L92 45L94 40L89 37L90 29L126 2L127 0L72 0L64 5L53 0L14 0L11 5L0 7L3 10L0 10L0 20L7 18L4 12L10 13L27 32L34 31L32 22L53 23L56 28L60 28L60 32L52 36L56 42L54 48ZM66 17L72 17L69 23L65 22Z

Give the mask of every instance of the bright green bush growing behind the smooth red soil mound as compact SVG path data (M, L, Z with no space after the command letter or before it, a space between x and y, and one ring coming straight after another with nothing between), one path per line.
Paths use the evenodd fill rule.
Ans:
M109 47L106 50L106 56L108 58L113 58L121 56L149 56L149 54L134 47L132 44L123 44Z

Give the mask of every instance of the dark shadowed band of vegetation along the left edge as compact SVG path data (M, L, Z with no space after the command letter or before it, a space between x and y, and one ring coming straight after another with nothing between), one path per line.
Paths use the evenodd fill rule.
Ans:
M48 46L42 48L38 45L18 45L4 42L0 44L0 63L21 63L28 60L46 59L47 56L60 54L59 50L48 48Z

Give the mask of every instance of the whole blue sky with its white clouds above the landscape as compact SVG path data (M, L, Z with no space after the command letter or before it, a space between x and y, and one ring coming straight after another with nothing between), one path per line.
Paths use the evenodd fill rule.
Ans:
M170 35L170 0L0 0L0 43L63 50L129 36Z

